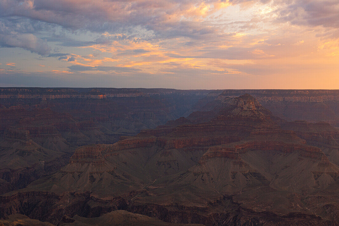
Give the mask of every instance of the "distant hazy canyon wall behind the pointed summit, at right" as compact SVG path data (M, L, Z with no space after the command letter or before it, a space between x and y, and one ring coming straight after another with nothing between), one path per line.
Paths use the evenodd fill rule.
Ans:
M265 108L286 120L327 121L339 124L338 90L225 90L219 98L245 93L254 96Z

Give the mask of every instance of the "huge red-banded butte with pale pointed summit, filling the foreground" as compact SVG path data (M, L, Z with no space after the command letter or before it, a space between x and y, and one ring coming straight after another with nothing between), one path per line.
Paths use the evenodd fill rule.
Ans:
M123 209L169 223L335 225L339 168L323 148L337 144L322 140L330 136L328 123L286 122L251 95L221 94L206 111L77 148L59 171L3 194L0 217L66 225Z

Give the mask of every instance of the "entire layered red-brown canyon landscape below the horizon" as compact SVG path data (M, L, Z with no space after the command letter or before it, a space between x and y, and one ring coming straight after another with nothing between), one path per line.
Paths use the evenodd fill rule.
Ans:
M0 225L338 225L339 90L0 88Z

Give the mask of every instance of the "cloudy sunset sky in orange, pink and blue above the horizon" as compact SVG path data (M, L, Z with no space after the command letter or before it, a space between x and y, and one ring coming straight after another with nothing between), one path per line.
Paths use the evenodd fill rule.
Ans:
M0 86L339 89L339 1L0 0Z

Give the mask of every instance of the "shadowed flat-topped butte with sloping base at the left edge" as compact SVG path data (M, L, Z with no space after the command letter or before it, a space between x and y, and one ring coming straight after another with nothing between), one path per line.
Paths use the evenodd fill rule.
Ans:
M26 187L44 174L60 169L67 158L66 153L34 142L29 130L8 127L0 138L0 191Z

